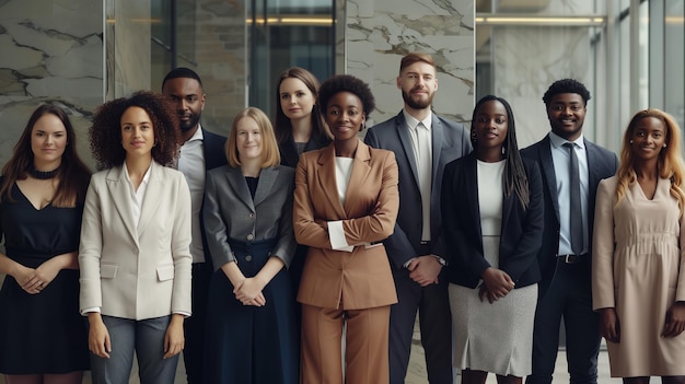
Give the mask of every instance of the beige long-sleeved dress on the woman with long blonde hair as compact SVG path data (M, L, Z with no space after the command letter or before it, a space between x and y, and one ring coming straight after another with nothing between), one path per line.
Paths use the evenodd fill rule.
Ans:
M685 333L661 336L666 310L685 301L685 220L671 182L649 200L638 183L616 206L617 177L600 183L592 255L593 309L615 307L620 342L607 341L613 377L685 375Z

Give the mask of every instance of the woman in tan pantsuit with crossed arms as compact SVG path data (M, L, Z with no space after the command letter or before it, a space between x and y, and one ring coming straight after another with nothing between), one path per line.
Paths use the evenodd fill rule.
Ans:
M380 243L393 233L399 196L392 152L357 135L374 107L369 86L336 75L320 90L334 142L302 154L295 174L294 232L307 245L298 293L302 303L302 379L387 383L390 305L397 302Z

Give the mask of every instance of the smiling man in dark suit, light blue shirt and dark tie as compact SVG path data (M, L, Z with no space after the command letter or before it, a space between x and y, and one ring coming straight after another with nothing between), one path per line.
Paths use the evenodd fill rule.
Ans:
M545 232L537 255L542 281L533 334L533 374L527 384L552 383L561 317L570 382L597 382L601 337L599 317L592 311L590 279L594 198L600 181L616 173L618 159L583 138L589 100L590 92L576 80L553 83L543 97L552 132L522 151L539 164L545 191ZM579 190L577 197L573 189ZM580 200L579 205L573 200ZM573 206L578 213L573 213Z

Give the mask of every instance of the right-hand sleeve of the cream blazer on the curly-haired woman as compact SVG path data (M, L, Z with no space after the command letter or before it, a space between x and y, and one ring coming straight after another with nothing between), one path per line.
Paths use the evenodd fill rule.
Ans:
M190 189L185 176L181 172L176 176L176 207L174 225L172 229L171 251L174 260L174 288L172 291L172 313L190 314L191 307L191 276L193 256L190 255Z

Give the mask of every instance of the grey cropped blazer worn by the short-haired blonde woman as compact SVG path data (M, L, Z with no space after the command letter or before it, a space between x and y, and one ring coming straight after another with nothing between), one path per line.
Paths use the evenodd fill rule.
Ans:
M214 270L235 261L230 238L252 242L278 237L271 254L290 265L295 251L293 186L293 168L281 165L264 168L253 201L240 167L224 165L207 173L202 216Z

